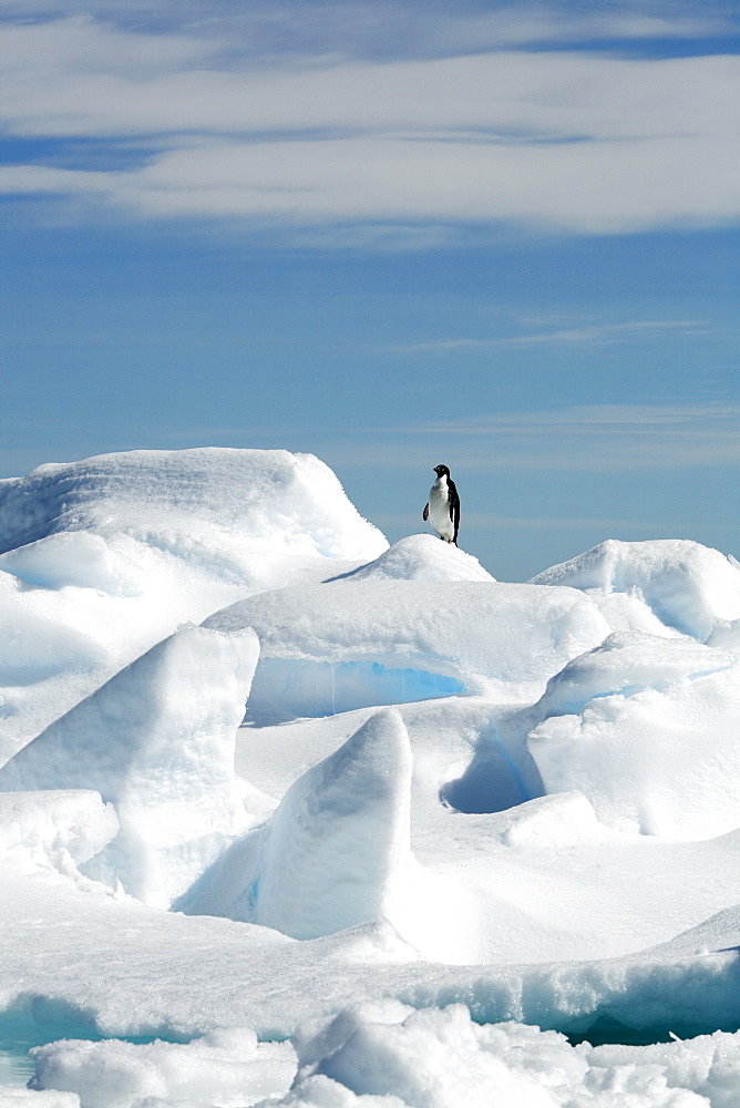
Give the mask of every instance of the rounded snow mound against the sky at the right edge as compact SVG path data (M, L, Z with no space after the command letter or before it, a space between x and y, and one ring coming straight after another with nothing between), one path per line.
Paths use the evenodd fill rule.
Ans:
M719 551L681 538L609 538L532 578L644 599L668 627L706 643L716 626L740 619L740 570Z

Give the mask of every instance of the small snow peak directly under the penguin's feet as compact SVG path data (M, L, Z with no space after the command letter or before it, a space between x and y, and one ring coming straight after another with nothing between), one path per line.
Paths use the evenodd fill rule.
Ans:
M343 574L353 581L494 581L476 557L433 535L409 535L374 562ZM337 579L337 578L335 578Z

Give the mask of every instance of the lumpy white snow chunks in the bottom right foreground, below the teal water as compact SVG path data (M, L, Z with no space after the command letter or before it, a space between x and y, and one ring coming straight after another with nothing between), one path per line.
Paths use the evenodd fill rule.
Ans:
M479 1026L461 1004L384 1001L307 1025L294 1045L298 1075L276 1108L732 1108L740 1095L740 1035L721 1032L573 1047L538 1027Z

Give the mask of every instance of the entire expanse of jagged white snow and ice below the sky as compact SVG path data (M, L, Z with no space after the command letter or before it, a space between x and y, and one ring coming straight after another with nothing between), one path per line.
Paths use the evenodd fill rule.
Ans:
M213 448L0 548L0 1105L740 1104L734 560L497 582Z

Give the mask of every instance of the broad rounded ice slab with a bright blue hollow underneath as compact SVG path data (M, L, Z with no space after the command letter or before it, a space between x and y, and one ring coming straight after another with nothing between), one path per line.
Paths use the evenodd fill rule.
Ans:
M534 699L610 630L577 589L372 578L261 593L204 626L255 628L249 712L264 721L463 691Z

